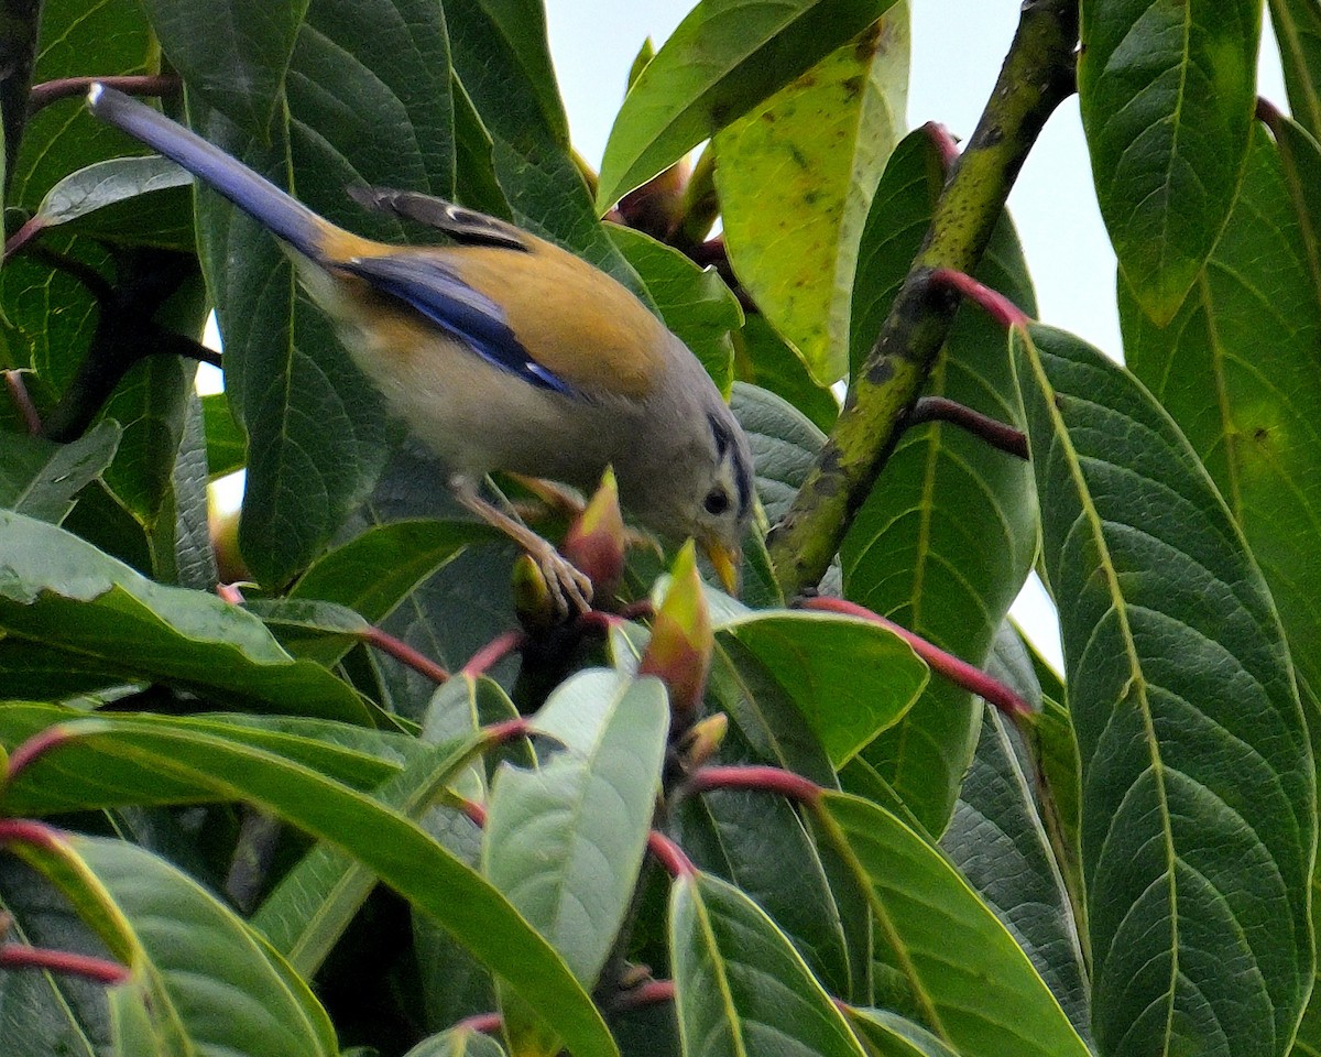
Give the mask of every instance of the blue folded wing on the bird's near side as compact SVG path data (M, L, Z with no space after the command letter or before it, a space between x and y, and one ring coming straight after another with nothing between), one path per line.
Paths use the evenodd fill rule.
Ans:
M487 363L538 388L580 396L573 386L531 357L495 301L473 289L441 262L415 255L369 256L336 262L334 267L417 309Z

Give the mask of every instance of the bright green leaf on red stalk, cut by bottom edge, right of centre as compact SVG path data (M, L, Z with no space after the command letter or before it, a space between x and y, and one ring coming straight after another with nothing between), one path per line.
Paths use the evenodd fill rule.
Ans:
M896 999L941 1041L968 1057L1087 1057L1028 955L939 851L857 797L826 793L820 815L867 889Z

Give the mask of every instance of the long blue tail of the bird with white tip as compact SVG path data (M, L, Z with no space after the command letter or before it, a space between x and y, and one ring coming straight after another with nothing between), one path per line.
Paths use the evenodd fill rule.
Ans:
M115 89L92 85L87 92L87 108L103 122L177 161L304 256L322 259L322 240L333 229L264 176Z

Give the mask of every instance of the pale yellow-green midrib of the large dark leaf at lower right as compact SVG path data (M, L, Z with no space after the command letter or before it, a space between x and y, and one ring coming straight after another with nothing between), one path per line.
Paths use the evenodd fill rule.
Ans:
M1115 565L1110 558L1110 547L1106 543L1104 536L1104 522L1100 513L1091 502L1091 490L1087 486L1086 480L1082 476L1081 460L1078 452L1073 445L1073 437L1065 425L1063 416L1059 414L1059 407L1057 406L1054 398L1055 390L1046 378L1045 371L1041 367L1041 358L1037 353L1036 342L1032 337L1020 330L1024 345L1030 350L1029 362L1032 363L1032 373L1036 378L1036 383L1042 394L1049 394L1048 399L1041 403L1046 407L1050 415L1050 421L1054 427L1055 443L1058 443L1067 458L1069 477L1074 482L1074 490L1078 493L1078 502L1082 506L1083 518L1087 526L1091 528L1092 542L1096 546L1096 556L1100 563L1102 569L1106 575L1106 585L1110 593L1111 608L1115 610L1115 616L1119 620L1119 628L1123 634L1124 653L1128 658L1129 676L1125 692L1122 695L1116 706L1125 704L1132 695L1136 694L1137 707L1141 710L1143 728L1147 732L1147 749L1151 756L1152 776L1156 784L1156 795L1160 801L1160 820L1161 820L1161 835L1165 839L1165 872L1169 877L1169 900L1170 900L1170 914L1169 914L1169 930L1170 930L1170 970L1169 970L1169 990L1165 992L1168 999L1165 1009L1165 1042L1161 1046L1161 1053L1169 1052L1169 1041L1174 1033L1174 1011L1177 1009L1177 1003L1174 1002L1174 994L1178 984L1178 881L1176 876L1174 867L1177 864L1178 856L1174 851L1174 834L1169 824L1169 797L1165 793L1165 769L1164 761L1161 760L1160 752L1157 749L1156 729L1152 723L1151 702L1147 696L1147 678L1143 674L1141 662L1137 658L1136 645L1133 642L1132 632L1128 626L1128 606L1125 604L1123 592L1119 589L1119 581L1115 572ZM1079 396L1071 396L1070 399L1082 399ZM1104 618L1104 617L1102 617ZM1106 954L1108 958L1108 951ZM1092 962L1095 965L1095 961Z

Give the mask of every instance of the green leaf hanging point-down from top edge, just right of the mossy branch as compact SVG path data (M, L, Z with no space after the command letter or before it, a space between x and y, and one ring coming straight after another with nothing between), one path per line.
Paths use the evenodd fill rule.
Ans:
M1078 96L1100 215L1157 325L1174 317L1238 193L1262 0L1082 5Z

